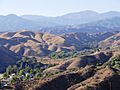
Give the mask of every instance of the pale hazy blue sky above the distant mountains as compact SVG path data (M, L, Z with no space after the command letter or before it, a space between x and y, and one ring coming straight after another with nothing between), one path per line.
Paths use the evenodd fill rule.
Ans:
M94 10L120 11L120 0L0 0L0 14L59 16Z

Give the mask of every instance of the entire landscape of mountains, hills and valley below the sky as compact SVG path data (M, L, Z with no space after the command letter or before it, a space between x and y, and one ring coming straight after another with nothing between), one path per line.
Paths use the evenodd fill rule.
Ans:
M1 15L0 31L0 89L120 89L120 12Z

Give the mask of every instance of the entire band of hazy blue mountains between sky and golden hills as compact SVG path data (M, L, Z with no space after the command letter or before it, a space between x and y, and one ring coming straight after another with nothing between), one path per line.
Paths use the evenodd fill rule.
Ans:
M97 13L94 11L82 11L69 13L57 17L45 17L39 15L14 14L0 16L0 31L18 31L27 29L32 31L63 34L70 32L105 32L119 31L120 12L110 11Z

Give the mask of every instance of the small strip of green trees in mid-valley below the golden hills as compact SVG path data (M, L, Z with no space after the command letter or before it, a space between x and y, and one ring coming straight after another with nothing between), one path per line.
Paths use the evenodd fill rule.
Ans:
M71 51L71 52L66 52L66 51L61 51L61 52L52 52L49 56L52 59L63 59L63 58L74 58L78 55L77 51Z

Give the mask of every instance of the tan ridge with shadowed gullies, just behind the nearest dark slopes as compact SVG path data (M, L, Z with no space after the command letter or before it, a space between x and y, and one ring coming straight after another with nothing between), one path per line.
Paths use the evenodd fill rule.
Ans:
M50 71L64 71L69 69L79 69L88 65L102 65L112 57L112 53L100 52L94 55L81 56L73 59L69 59L60 63L57 66L46 69L46 72Z

